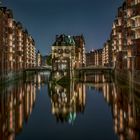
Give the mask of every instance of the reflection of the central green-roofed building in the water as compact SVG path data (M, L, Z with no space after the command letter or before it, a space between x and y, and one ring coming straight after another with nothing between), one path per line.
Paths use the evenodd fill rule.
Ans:
M84 112L85 108L85 85L70 84L70 87L59 85L51 86L50 97L52 104L52 114L57 121L73 123L77 113Z

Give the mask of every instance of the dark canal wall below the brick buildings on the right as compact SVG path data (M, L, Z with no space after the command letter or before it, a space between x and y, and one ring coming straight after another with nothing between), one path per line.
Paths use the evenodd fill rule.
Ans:
M134 91L140 91L140 71L114 70L114 79L127 84Z

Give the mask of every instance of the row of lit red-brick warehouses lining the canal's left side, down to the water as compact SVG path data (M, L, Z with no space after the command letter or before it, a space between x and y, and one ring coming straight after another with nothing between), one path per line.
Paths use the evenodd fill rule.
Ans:
M0 36L0 80L35 66L35 42L6 7L0 7Z

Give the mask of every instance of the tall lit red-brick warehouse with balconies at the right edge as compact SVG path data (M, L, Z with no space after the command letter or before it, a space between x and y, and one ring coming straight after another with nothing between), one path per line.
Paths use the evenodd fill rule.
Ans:
M113 62L118 70L140 70L140 1L125 0L112 33Z

